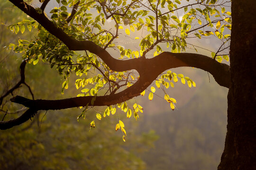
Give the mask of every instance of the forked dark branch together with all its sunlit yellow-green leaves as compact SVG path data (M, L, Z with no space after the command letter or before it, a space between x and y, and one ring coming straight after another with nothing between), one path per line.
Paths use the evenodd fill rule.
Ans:
M68 89L72 73L79 76L75 86L82 93L62 100L34 100L31 90L32 100L15 96L12 102L29 109L17 119L2 121L1 129L27 121L37 110L72 107L84 107L79 118L85 118L91 107L108 106L102 114L95 115L97 119L115 114L117 108L128 118L133 113L137 119L142 106L136 101L129 106L126 101L144 95L147 88L148 99L152 100L156 88L165 92L179 79L190 88L196 85L191 78L168 70L171 68L201 68L212 74L219 85L230 86L229 65L221 63L222 59L229 60L226 50L230 34L224 31L231 29L231 13L225 9L229 1L195 0L184 4L180 0L56 0L51 5L50 0L9 1L34 19L22 20L9 29L16 34L32 29L38 33L32 41L19 39L9 45L23 54L21 79L1 96L0 102L19 85L27 85L26 63L36 65L39 60L49 63L63 77L61 93ZM182 53L191 47L197 50L190 39L206 36L222 42L217 51L211 51L211 57ZM137 46L132 49L125 45L124 38ZM155 85L150 86L152 82ZM164 98L174 110L176 100L167 93ZM91 127L94 126L93 120ZM116 130L119 128L125 136L122 120L117 122Z

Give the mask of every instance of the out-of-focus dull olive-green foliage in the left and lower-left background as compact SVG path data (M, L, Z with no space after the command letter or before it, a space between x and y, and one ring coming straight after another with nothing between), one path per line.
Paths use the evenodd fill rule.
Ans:
M9 8L10 3L3 1L0 4L2 12L0 20L5 21L6 25L9 22L15 22L14 16L27 17L22 15L21 11ZM18 33L18 35L10 34L6 28L7 26L0 27L0 33L3 35L0 39L1 47L16 39L17 36L29 38L26 32ZM4 93L8 86L15 84L18 79L16 65L20 62L20 55L9 53L6 48L1 48L0 54L0 82L2 84L0 93ZM58 74L42 63L37 63L36 66L35 68L34 65L28 65L26 68L27 84L30 85L34 95L40 98L60 98L58 89L61 88L61 84ZM16 93L30 96L26 86L18 88L14 94ZM72 88L66 95L71 95L70 93L72 94ZM24 110L8 100L9 96L1 105L1 119L17 118L20 111ZM5 113L8 114L5 115ZM93 119L93 111L90 110L88 113L88 119ZM56 115L54 111L40 111L32 121L18 128L1 131L1 169L145 169L145 163L136 154L145 152L154 145L153 142L157 139L154 132L149 132L146 136L130 132L134 140L127 140L123 143L115 131L108 128L110 124L113 124L110 119L102 122L100 128L89 132L88 120L78 123L73 119L79 115L78 110L64 110L61 111L61 115L61 117ZM135 127L136 124L133 126ZM131 131L133 126L131 126ZM134 150L129 151L127 147L134 148ZM137 150L138 147L141 150Z

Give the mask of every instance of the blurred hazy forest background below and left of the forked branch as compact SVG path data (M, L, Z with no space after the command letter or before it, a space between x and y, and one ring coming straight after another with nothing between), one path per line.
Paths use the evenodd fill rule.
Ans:
M7 29L11 23L27 18L17 8L0 0L0 95L18 82L21 57L4 48L17 43L23 36ZM27 18L29 19L29 18ZM27 29L27 28L26 28ZM115 132L117 115L95 120L95 111L77 122L80 109L38 112L34 119L18 127L0 131L0 167L3 170L216 170L224 147L227 122L227 93L204 71L195 68L172 70L183 73L196 82L189 89L180 82L169 88L177 100L172 111L163 99L145 97L136 100L143 106L140 118L125 121L126 142L121 132ZM26 82L35 98L58 99L61 76L40 63L28 64ZM210 83L209 83L210 80ZM65 97L76 95L69 88ZM26 86L13 93L31 98ZM24 111L19 105L4 100L0 119L15 118ZM11 110L10 110L11 109ZM103 108L102 110L104 110ZM17 111L20 110L20 111ZM126 115L119 114L125 119ZM101 121L100 123L98 123Z

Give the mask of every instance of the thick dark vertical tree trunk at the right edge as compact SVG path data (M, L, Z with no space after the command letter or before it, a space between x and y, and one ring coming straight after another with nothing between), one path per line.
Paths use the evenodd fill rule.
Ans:
M228 126L218 170L256 170L256 0L232 0Z

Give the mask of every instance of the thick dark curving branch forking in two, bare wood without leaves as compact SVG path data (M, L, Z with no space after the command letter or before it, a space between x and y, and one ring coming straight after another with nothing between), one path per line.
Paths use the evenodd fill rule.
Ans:
M91 41L78 41L55 26L44 14L27 5L22 0L9 0L27 15L33 17L39 24L44 26L51 34L64 42L69 50L87 50L98 55L111 70L126 71L136 69L140 75L139 80L127 89L105 96L83 96L62 100L30 100L21 96L11 99L12 102L22 104L30 111L26 111L21 117L14 120L0 122L0 129L10 128L30 119L37 110L60 110L73 107L86 106L109 106L120 102L128 101L143 92L159 74L170 68L195 67L210 72L219 85L229 88L230 71L227 64L221 64L214 59L201 54L193 53L171 53L163 52L152 59L138 58L128 60L114 59L106 50ZM92 102L93 101L93 102ZM6 127L5 127L6 126Z

